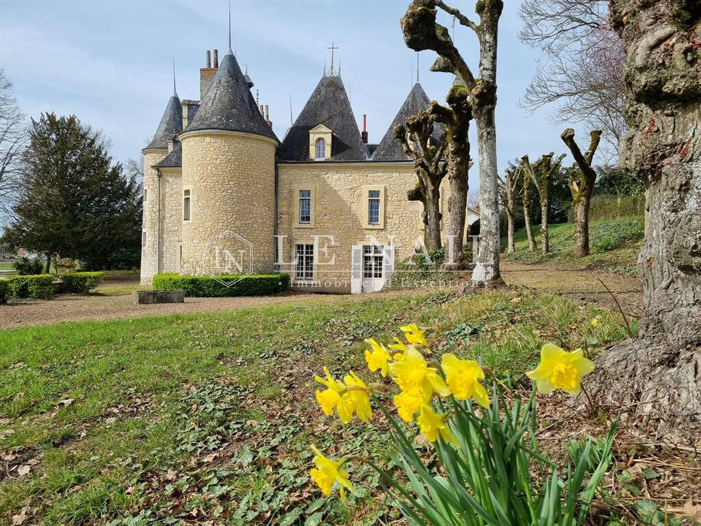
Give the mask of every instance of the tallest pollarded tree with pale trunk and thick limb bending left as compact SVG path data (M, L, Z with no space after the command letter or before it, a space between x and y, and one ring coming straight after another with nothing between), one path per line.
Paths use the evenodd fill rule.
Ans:
M467 62L455 47L447 27L436 22L437 10L441 9L453 15L461 25L468 27L477 35L479 41L479 77L475 78ZM502 283L499 274L499 203L498 203L498 172L496 165L496 125L494 109L496 108L496 49L498 22L503 10L502 0L479 0L475 11L479 15L479 25L463 15L458 9L447 6L442 0L414 0L407 8L402 18L402 33L409 48L434 50L439 58L431 69L438 72L448 72L456 76L465 95L469 98L471 116L474 116L477 127L477 149L479 154L479 205L480 205L480 234L477 264L472 273L472 283L475 285L495 285ZM462 91L454 86L453 95L461 95ZM468 119L469 121L469 119ZM465 143L467 137L465 136ZM452 159L464 166L464 171L458 172L465 178L465 198L468 189L468 148L458 148L454 142L455 154ZM450 149L448 150L450 152ZM450 163L451 156L448 156ZM449 166L448 170L451 170ZM461 168L462 170L462 168ZM466 202L458 203L463 209ZM449 230L458 232L458 225ZM456 248L462 245L464 220L459 238L455 238ZM457 252L457 250L456 250Z

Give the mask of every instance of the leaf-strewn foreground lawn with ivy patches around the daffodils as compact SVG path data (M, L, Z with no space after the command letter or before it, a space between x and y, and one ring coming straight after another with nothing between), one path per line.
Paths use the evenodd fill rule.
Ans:
M9 475L0 479L0 522L22 509L27 523L47 525L276 525L286 513L301 516L296 525L315 513L332 525L396 520L362 467L348 504L320 499L308 447L386 464L383 431L322 416L313 376L326 365L374 378L362 339L389 342L409 321L430 328L436 355L452 351L515 377L551 335L591 353L625 337L608 311L530 290L0 331L0 468ZM20 466L31 471L22 476Z

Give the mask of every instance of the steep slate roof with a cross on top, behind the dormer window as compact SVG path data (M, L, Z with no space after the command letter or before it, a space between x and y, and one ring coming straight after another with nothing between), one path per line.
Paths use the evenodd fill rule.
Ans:
M309 130L323 124L333 132L330 161L367 161L365 144L340 76L322 76L311 97L285 135L282 161L309 160Z

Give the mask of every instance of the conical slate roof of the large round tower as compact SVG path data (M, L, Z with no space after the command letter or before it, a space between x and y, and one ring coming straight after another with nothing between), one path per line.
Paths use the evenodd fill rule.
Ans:
M185 131L229 130L278 140L256 105L233 53L226 53Z

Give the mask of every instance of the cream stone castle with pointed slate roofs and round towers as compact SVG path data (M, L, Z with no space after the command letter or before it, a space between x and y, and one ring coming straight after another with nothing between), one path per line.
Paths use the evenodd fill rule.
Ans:
M142 151L142 284L163 272L279 271L295 288L379 290L423 241L422 205L407 199L414 163L393 137L428 107L418 79L379 144L365 116L358 129L333 66L282 141L252 86L231 46L221 64L207 51L200 100L181 101L174 80ZM468 223L477 218L468 209Z

